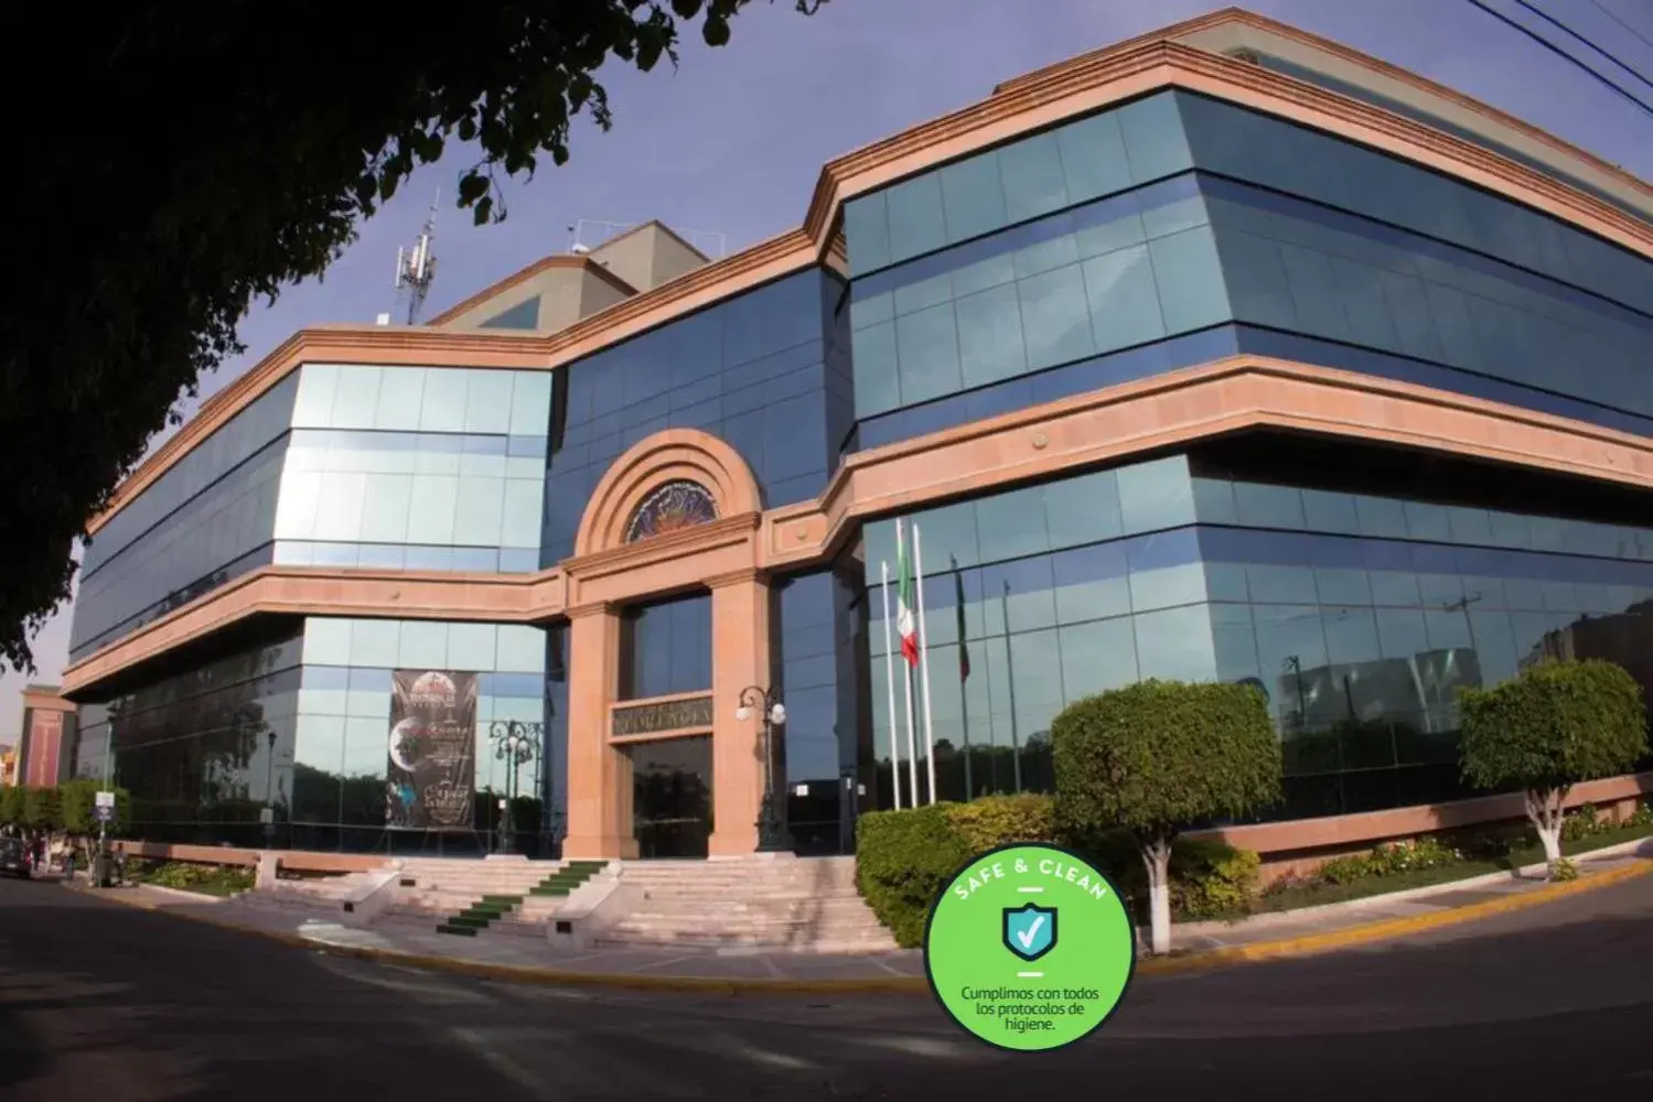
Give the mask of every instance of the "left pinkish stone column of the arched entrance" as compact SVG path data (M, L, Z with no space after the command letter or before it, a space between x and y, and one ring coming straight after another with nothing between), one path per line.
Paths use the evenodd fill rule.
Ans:
M631 758L608 742L620 692L620 611L569 610L569 833L564 857L635 857Z

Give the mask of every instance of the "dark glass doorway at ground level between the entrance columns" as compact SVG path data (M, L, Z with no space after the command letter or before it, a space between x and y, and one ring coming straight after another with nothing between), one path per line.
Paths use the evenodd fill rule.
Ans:
M635 742L626 753L638 857L704 857L712 833L711 735Z

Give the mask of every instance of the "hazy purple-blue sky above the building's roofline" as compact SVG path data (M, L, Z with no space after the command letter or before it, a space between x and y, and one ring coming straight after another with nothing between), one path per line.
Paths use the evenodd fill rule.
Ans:
M1516 0L1486 0L1522 17ZM1529 0L1653 78L1653 0ZM474 157L451 145L360 228L327 271L258 302L241 324L246 354L202 380L200 398L235 382L294 330L370 324L395 309L397 248L412 243L436 192L438 273L425 316L536 259L567 251L580 220L721 235L739 251L802 223L828 160L984 99L993 84L1218 7L1212 0L831 0L813 18L790 0L754 3L734 38L698 38L681 66L640 74L610 61L613 129L579 124L572 157L511 182L509 218L476 228L453 207ZM1468 0L1250 0L1270 18L1341 41L1526 119L1653 180L1653 119L1589 74ZM1615 21L1617 18L1617 21ZM1542 28L1542 23L1524 17ZM691 35L698 35L691 31ZM1551 35L1555 35L1551 30ZM1575 43L1570 46L1579 48ZM1590 59L1653 101L1653 88ZM699 241L698 241L699 243ZM398 316L400 317L400 316ZM188 415L200 398L182 406ZM164 443L157 435L152 446ZM0 742L21 724L25 684L55 684L68 659L69 608L35 639L36 672L0 674Z

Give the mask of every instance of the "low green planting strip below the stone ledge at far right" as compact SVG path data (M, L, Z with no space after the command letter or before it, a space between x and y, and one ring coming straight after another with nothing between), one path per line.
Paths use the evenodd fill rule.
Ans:
M1570 838L1562 843L1562 853L1569 857L1618 846L1620 843L1653 838L1653 823L1628 823L1623 826L1592 826L1589 834ZM1496 851L1503 853L1496 853ZM1494 853L1488 853L1494 851ZM1511 838L1479 838L1466 846L1465 856L1420 869L1384 869L1352 879L1324 879L1314 876L1303 881L1284 881L1263 892L1253 907L1253 914L1274 914L1281 910L1298 910L1299 907L1322 907L1326 904L1344 904L1354 899L1370 899L1390 892L1405 892L1415 887L1435 887L1455 881L1468 881L1489 872L1512 872L1529 864L1544 861L1544 848L1531 838L1531 831L1522 831L1519 841ZM1374 862L1377 866L1377 862Z

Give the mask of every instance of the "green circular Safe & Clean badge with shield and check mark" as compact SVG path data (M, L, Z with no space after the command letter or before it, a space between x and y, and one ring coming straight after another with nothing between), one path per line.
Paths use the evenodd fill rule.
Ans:
M1045 1052L1083 1041L1119 1008L1136 929L1112 882L1083 857L1003 846L959 869L936 900L924 971L967 1031Z

